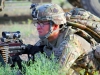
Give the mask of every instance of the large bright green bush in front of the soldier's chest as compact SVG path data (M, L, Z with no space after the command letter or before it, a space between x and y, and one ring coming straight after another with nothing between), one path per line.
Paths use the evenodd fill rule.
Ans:
M48 59L44 54L39 55L39 57L35 57L34 64L30 64L30 66L24 65L26 68L25 75L58 75L60 66L57 64L58 61L54 60L54 56L52 55L52 57Z

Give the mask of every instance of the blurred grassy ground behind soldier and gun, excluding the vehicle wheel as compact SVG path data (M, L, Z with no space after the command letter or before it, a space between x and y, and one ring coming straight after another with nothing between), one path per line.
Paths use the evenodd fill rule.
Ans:
M35 44L39 38L32 23L32 3L57 3L64 9L71 9L72 5L65 0L5 0L4 8L0 12L0 37L2 31L20 31L25 44ZM62 4L61 4L62 3Z

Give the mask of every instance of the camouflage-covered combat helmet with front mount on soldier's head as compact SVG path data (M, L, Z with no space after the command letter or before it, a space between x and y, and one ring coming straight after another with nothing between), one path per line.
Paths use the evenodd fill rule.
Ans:
M51 20L57 25L66 23L65 12L57 4L38 5L33 9L32 17L34 21Z

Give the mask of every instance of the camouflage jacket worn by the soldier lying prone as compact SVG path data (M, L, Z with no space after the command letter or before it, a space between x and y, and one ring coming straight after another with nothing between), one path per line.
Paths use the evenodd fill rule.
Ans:
M36 45L45 45L43 51L48 57L54 53L61 65L60 73L78 75L82 69L91 72L98 69L99 63L93 56L91 45L82 37L67 33L66 30L61 32L56 40L52 42L40 40Z

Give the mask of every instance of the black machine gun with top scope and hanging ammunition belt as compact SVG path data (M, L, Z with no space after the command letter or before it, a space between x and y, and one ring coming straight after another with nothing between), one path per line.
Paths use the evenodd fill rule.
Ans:
M2 64L11 64L11 57L15 54L21 54L23 52L25 45L20 37L20 31L2 32L0 43L0 62Z

